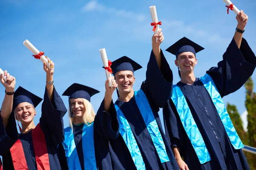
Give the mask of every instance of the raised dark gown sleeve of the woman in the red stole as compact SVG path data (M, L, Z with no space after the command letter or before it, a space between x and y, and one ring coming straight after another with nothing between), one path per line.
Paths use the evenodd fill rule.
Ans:
M44 102L42 104L42 116L40 118L41 128L47 139L52 144L58 145L64 141L63 116L67 112L61 96L53 88L52 102L49 99L47 89L45 88Z

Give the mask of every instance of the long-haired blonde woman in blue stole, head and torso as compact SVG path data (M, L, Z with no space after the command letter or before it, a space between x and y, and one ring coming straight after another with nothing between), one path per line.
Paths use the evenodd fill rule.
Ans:
M68 96L70 126L64 129L61 159L68 169L97 169L94 146L95 112L90 98L99 93L94 88L74 83L62 96ZM65 156L64 156L65 155Z

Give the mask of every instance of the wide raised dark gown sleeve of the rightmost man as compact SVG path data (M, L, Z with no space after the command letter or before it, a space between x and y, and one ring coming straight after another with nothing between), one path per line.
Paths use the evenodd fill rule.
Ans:
M239 49L233 39L218 67L210 68L207 74L212 77L221 97L224 97L241 88L255 67L256 57L247 41L243 38Z

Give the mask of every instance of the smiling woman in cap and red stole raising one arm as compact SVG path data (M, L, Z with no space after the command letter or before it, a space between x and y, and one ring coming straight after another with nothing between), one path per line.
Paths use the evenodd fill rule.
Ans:
M34 122L35 108L43 99L22 87L13 94L12 112L22 127L17 142L3 155L4 170L61 170L57 147L64 140L62 118L67 109L53 85L54 63L47 59L52 69L48 69L44 62L47 78L38 125ZM7 121L16 128L15 119ZM13 133L10 130L7 126L7 133Z

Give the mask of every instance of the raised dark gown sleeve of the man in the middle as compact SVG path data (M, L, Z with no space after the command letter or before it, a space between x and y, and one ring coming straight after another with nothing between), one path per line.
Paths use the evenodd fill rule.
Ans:
M161 50L161 68L157 65L153 51L146 71L146 80L142 83L141 88L148 98L151 98L156 108L163 108L167 100L172 95L172 70L166 61Z

